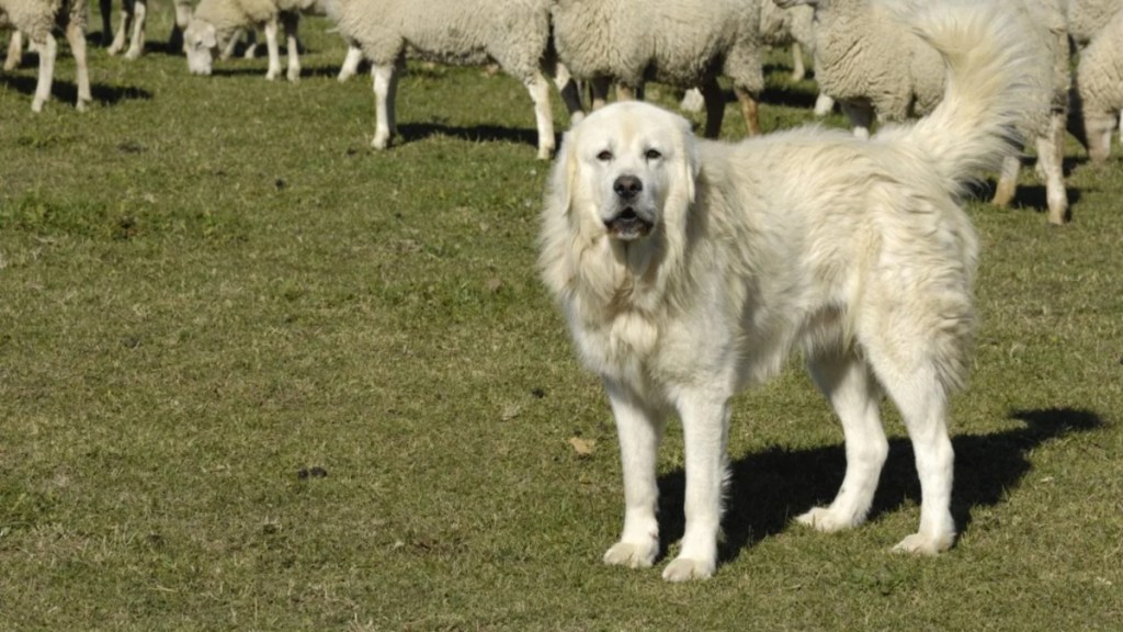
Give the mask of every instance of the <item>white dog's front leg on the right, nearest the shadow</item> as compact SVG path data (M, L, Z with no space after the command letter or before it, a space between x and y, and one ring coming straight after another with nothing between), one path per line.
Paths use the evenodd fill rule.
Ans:
M663 571L667 581L705 579L713 575L727 479L728 400L691 394L682 398L679 416L686 443L686 532L678 557Z

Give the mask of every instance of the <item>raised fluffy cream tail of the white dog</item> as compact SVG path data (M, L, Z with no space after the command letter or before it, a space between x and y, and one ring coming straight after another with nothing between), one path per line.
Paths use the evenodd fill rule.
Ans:
M1048 51L1017 2L905 2L905 20L948 66L943 100L900 130L935 164L949 191L962 193L985 171L1017 153L1019 121L1047 107Z

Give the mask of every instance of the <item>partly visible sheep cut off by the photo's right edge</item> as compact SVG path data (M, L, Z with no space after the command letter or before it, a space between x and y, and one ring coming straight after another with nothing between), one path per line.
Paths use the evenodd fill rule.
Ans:
M1112 129L1123 110L1123 10L1115 13L1080 53L1076 70L1076 105L1083 136L1094 163L1107 160ZM1123 141L1123 128L1120 130Z

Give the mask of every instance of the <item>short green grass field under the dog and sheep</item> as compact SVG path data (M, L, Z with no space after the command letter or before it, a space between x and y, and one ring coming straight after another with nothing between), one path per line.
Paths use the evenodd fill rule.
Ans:
M1117 145L1096 169L1070 143L1068 226L1032 169L1015 208L969 207L953 550L888 552L919 514L891 407L870 523L792 524L843 467L793 364L737 401L716 576L667 585L600 562L617 441L537 277L522 88L414 66L404 142L376 153L327 21L287 84L262 60L188 75L161 48L171 8L152 15L143 58L91 47L89 112L65 46L42 115L34 55L0 75L0 630L1120 629ZM813 85L774 70L766 129L809 120ZM682 466L673 427L668 543Z

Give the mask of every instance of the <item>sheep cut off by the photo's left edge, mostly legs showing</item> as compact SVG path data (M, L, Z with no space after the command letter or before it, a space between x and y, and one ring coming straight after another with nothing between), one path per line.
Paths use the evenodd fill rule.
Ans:
M77 103L84 111L93 101L90 93L90 72L85 64L86 3L84 0L0 0L0 16L12 28L21 31L39 54L39 79L31 99L31 111L43 111L51 98L58 44L54 29L57 25L66 34L77 74Z

